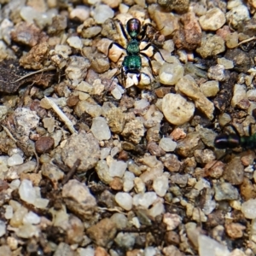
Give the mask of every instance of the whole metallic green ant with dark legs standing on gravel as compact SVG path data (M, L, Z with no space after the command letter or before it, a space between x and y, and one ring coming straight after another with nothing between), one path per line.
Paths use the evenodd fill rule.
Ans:
M109 55L109 49L111 49L113 47L113 44L118 46L120 49L124 49L126 51L126 54L127 54L125 56L124 61L122 62L121 72L118 73L117 75L115 75L113 77L113 79L115 79L119 75L121 75L122 83L125 84L125 78L127 77L127 73L134 73L134 74L137 74L138 81L140 81L140 79L141 79L141 69L142 69L142 57L141 57L141 55L143 55L144 57L147 58L148 63L149 63L149 67L153 71L152 63L150 61L150 58L148 57L148 55L146 55L142 51L147 50L151 46L151 47L153 47L153 52L154 52L153 55L156 52L160 53L160 50L154 44L152 44L150 42L150 38L148 38L148 35L147 35L148 26L151 26L153 28L154 28L154 26L152 26L150 23L146 23L142 27L140 20L132 18L132 19L128 20L127 23L126 23L126 32L128 33L128 35L127 35L127 33L125 32L124 25L121 23L120 20L117 20L117 21L119 22L119 26L121 28L121 31L122 31L125 39L127 40L128 44L127 44L126 49L122 45L120 45L116 42L112 42L108 46L108 55ZM140 49L140 44L142 42L147 42L148 44L146 45L145 48ZM160 56L164 59L164 57L161 55L161 53L160 53ZM150 77L148 76L147 73L143 73L143 74L146 75L150 79ZM152 81L150 79L150 84L151 83L152 83Z

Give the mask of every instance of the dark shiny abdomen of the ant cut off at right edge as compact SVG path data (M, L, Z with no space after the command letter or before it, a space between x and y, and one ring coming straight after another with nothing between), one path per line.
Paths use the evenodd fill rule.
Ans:
M214 147L219 149L236 148L241 146L241 137L236 134L220 134L214 140Z

